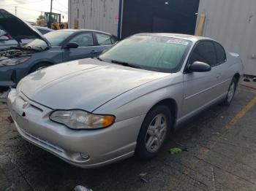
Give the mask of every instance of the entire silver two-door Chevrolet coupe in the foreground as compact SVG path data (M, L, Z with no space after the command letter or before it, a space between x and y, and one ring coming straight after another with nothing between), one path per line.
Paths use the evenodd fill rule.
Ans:
M8 106L23 139L72 165L149 159L183 122L229 105L243 68L213 39L137 34L98 58L29 74Z

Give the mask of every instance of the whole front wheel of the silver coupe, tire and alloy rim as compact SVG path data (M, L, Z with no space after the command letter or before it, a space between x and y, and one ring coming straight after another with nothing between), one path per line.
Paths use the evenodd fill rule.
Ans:
M167 106L159 105L151 109L140 128L135 155L140 160L149 160L155 157L170 135L172 125L173 117ZM149 128L150 126L151 128Z

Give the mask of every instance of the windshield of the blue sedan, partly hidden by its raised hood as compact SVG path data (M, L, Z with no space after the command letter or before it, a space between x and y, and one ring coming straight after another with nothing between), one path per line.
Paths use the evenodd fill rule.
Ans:
M45 38L48 39L51 46L59 46L64 39L67 39L73 32L71 31L52 31L48 34L45 34ZM41 39L34 39L34 41L26 44L25 47L32 47L45 50L47 44Z

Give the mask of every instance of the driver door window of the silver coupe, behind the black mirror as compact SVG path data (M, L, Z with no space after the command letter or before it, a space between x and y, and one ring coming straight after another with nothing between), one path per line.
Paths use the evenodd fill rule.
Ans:
M191 57L189 58L189 64L194 63L195 61L208 63L210 66L217 65L216 52L213 42L203 41L196 45Z

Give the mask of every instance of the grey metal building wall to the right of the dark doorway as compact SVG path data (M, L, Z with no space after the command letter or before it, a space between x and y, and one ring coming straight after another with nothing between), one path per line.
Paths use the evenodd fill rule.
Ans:
M198 15L201 13L206 13L204 36L239 53L245 74L256 75L256 1L200 0Z

